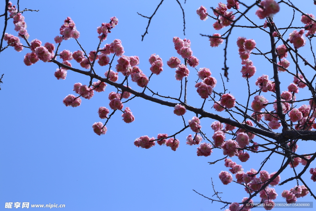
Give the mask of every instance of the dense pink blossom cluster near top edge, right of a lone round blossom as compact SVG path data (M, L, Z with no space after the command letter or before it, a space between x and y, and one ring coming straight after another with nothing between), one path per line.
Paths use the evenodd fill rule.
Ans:
M231 3L228 3L230 8L232 5ZM237 1L235 1L235 3L237 3L237 5L235 4L234 6L239 7L239 3ZM233 11L227 11L228 5L220 2L218 3L218 7L216 7L216 9L213 11L214 15L217 16L217 18L219 19L213 24L213 28L215 30L220 30L226 26L230 26L230 24L233 23L235 15L233 15Z

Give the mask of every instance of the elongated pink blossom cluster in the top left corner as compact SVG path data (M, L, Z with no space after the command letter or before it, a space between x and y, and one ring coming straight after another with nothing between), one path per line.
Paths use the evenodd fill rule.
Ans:
M27 25L24 21L24 16L22 16L21 13L19 13L19 11L16 9L15 5L12 6L12 3L9 2L8 3L8 12L10 13L10 17L13 18L13 23L15 25L14 30L18 32L18 36L19 37L26 37L26 39L29 38L29 34L27 33ZM23 47L19 47L19 48L14 48L16 51L20 52ZM19 49L19 50L17 50Z

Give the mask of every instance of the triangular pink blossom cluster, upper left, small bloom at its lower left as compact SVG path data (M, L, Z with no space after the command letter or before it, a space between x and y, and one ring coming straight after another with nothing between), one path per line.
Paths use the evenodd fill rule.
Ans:
M78 39L80 33L76 30L76 24L70 17L64 20L64 24L59 29L59 34L63 35L64 40L69 40L70 38ZM60 43L60 36L55 37L55 42Z

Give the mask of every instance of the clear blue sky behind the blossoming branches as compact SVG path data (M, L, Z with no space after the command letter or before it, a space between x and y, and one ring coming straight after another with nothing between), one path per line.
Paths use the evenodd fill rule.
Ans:
M223 48L211 48L206 37L199 34L217 33L212 28L214 20L205 22L199 20L196 9L204 5L206 8L216 7L216 2L210 1L180 1L185 10L185 36L183 35L182 11L176 1L163 2L149 26L149 34L141 41L145 32L147 19L137 15L137 12L151 16L160 1L20 1L20 8L39 9L39 12L25 12L25 22L30 34L29 40L39 39L43 43L53 43L53 38L59 35L59 28L64 19L70 16L80 32L78 39L86 51L95 50L98 45L96 28L102 22L116 16L119 24L108 35L102 44L120 39L125 55L137 55L140 58L139 67L149 76L151 54L160 55L164 62L164 71L154 75L149 88L159 91L161 95L179 96L180 82L174 78L174 69L167 66L171 56L178 56L173 47L172 38L191 40L193 54L200 60L199 67L210 68L212 76L217 79L216 91L222 92L220 73L223 67ZM252 2L252 1L249 1ZM249 3L248 2L248 3ZM245 2L247 3L247 2ZM16 4L13 1L13 4ZM250 3L249 3L250 4ZM312 2L306 3L304 11L313 12ZM299 6L299 5L298 5ZM244 8L241 7L241 10ZM209 9L210 10L210 9ZM258 25L264 23L254 15L256 9L249 11L248 16ZM287 14L287 15L286 15ZM274 21L278 27L286 27L292 18L292 10L281 5L280 13ZM3 19L1 23L3 24ZM303 26L299 16L293 23ZM241 20L238 25L249 25ZM3 25L0 25L2 28ZM12 20L9 21L7 32L16 35ZM223 34L227 28L219 33ZM288 31L289 34L291 31ZM235 44L238 36L254 39L262 52L269 51L270 38L259 29L234 28L229 40L228 66L229 78L225 87L233 94L238 102L246 102L246 80L241 78L241 64L238 48ZM23 42L25 43L25 42ZM74 52L79 49L73 39L63 41L60 51L67 49ZM307 60L312 61L309 45L301 48L301 53ZM137 137L148 135L156 137L158 133L173 134L183 127L182 118L173 114L173 109L134 99L124 106L130 107L135 121L126 124L120 114L115 114L109 121L107 133L96 135L92 124L100 121L97 114L100 106L108 106L108 93L116 89L107 86L103 93L95 93L90 100L82 99L80 107L65 107L62 100L68 94L74 94L73 84L80 82L88 84L89 78L68 71L66 80L57 80L54 71L57 66L52 63L39 61L32 66L26 66L23 58L29 50L18 53L8 48L0 55L5 74L1 84L1 148L0 153L0 208L5 202L30 202L30 204L65 204L64 210L219 210L221 203L211 203L197 192L211 197L213 193L211 178L216 191L223 192L223 201L240 202L247 194L235 183L223 185L218 174L228 171L223 161L209 165L223 158L221 150L213 150L209 157L197 157L196 146L185 145L185 139L193 132L186 129L177 136L180 146L176 152L170 147L155 146L148 150L134 146ZM257 73L250 79L252 90L255 90L256 78L262 74L272 78L272 66L263 57L251 55L250 59L257 67ZM79 65L70 61L75 67ZM183 62L183 61L182 61ZM95 66L96 72L103 76L108 66ZM302 68L306 68L302 65ZM112 70L115 70L114 68ZM197 80L196 71L190 70L188 82L188 103L200 107L203 103L194 88ZM294 66L290 66L295 71ZM307 78L313 72L306 68ZM119 74L119 81L123 77ZM286 90L293 78L282 73L281 90ZM131 88L142 90L135 83ZM297 99L309 98L308 90L300 90ZM269 93L264 95L273 100ZM213 103L206 102L204 109L212 109ZM301 104L299 104L300 106ZM195 114L187 112L184 115L187 122ZM226 114L221 113L227 117ZM210 124L214 120L202 119L202 131L210 138L213 130ZM228 138L229 136L227 136ZM264 143L256 138L258 143ZM298 143L298 153L313 153L316 144L308 141ZM245 171L257 169L267 154L250 154L246 163L234 157L233 161L241 164ZM272 156L265 170L272 173L277 171L282 163L280 156ZM312 166L314 167L314 163ZM302 166L298 166L298 171ZM293 171L287 169L281 174L283 179L292 177ZM303 176L313 187L310 174ZM294 182L282 187L276 187L279 196L276 202L283 202L281 192L295 186ZM214 198L214 197L213 197ZM259 200L258 197L256 198ZM299 202L311 202L313 198L306 196ZM38 208L40 209L40 208ZM295 210L295 209L293 209ZM308 209L307 209L308 210Z

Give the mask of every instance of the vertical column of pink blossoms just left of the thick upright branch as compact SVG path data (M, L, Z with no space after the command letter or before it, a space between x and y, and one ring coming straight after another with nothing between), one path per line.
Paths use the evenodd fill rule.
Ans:
M251 78L255 72L256 67L253 66L251 60L249 60L251 51L256 47L256 42L252 39L247 40L245 37L238 37L237 39L238 51L241 59L241 64L244 65L241 68L243 78Z

